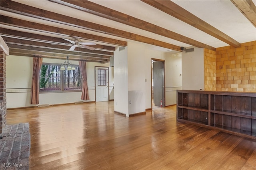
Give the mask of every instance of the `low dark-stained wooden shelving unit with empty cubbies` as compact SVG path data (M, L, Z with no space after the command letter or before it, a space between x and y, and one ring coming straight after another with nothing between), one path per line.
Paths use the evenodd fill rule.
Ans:
M256 138L256 93L177 90L177 121Z

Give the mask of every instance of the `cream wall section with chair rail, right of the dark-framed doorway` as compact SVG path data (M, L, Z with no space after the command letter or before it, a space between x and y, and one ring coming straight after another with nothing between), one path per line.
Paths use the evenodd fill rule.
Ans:
M176 90L182 89L181 54L165 53L166 106L176 104Z

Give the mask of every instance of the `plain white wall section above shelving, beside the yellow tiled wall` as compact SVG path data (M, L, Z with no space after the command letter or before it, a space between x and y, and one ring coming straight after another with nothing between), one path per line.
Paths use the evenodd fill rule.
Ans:
M204 89L204 48L182 52L182 89Z

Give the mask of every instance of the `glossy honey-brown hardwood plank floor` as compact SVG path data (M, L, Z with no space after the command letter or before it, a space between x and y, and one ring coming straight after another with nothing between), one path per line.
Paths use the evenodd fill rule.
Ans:
M176 106L114 114L114 102L7 110L29 122L30 170L255 170L256 140L176 122Z

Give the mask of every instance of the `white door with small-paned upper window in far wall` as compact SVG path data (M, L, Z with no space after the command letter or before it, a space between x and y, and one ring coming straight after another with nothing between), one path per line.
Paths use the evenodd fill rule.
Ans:
M108 68L96 67L95 89L96 102L108 101Z

